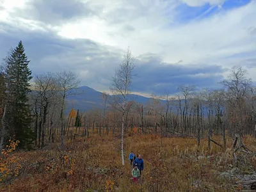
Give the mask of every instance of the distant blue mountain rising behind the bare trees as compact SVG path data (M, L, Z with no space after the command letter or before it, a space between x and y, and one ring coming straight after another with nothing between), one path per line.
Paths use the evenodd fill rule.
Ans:
M77 94L72 95L67 98L67 113L70 109L79 109L79 111L90 111L92 109L102 109L102 93L88 86L81 86L76 90ZM143 97L140 95L128 95L128 100L134 100L135 102L139 102L141 104L147 104L150 98Z

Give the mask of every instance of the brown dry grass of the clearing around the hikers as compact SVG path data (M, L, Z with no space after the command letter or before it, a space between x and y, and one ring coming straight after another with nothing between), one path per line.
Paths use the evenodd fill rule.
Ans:
M231 180L219 177L220 171L227 170L232 164L230 148L223 151L212 144L211 150L207 150L207 140L202 140L198 150L196 140L191 138L163 138L161 147L159 136L127 135L123 167L119 139L113 138L112 134L90 136L67 142L65 152L59 152L56 145L47 150L16 152L23 169L12 184L3 184L0 190L106 191L115 181L114 191L238 191L232 187ZM214 140L221 143L221 138ZM254 138L247 137L244 143L256 150ZM227 145L232 146L230 138ZM131 182L128 159L131 150L141 154L145 161L145 170L138 184ZM74 165L67 164L69 161L66 162L63 156L71 159ZM211 156L208 161L207 156ZM47 161L53 157L57 158ZM28 166L36 161L40 163Z

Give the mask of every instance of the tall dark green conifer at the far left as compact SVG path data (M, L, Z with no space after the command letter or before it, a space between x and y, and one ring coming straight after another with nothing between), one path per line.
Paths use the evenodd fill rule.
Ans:
M6 88L8 94L8 131L10 136L20 141L20 146L25 147L33 139L31 116L28 104L29 81L32 79L29 70L29 60L25 54L22 42L10 52L6 68Z

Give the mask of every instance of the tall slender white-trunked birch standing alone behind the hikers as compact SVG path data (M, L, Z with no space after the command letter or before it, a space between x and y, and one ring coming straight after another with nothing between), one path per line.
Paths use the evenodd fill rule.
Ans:
M131 91L132 77L134 77L134 57L129 49L124 55L124 61L120 64L119 68L115 72L115 76L112 79L112 85L110 87L113 94L114 103L122 111L122 130L121 130L121 154L122 164L124 165L124 118L127 108L127 95Z

